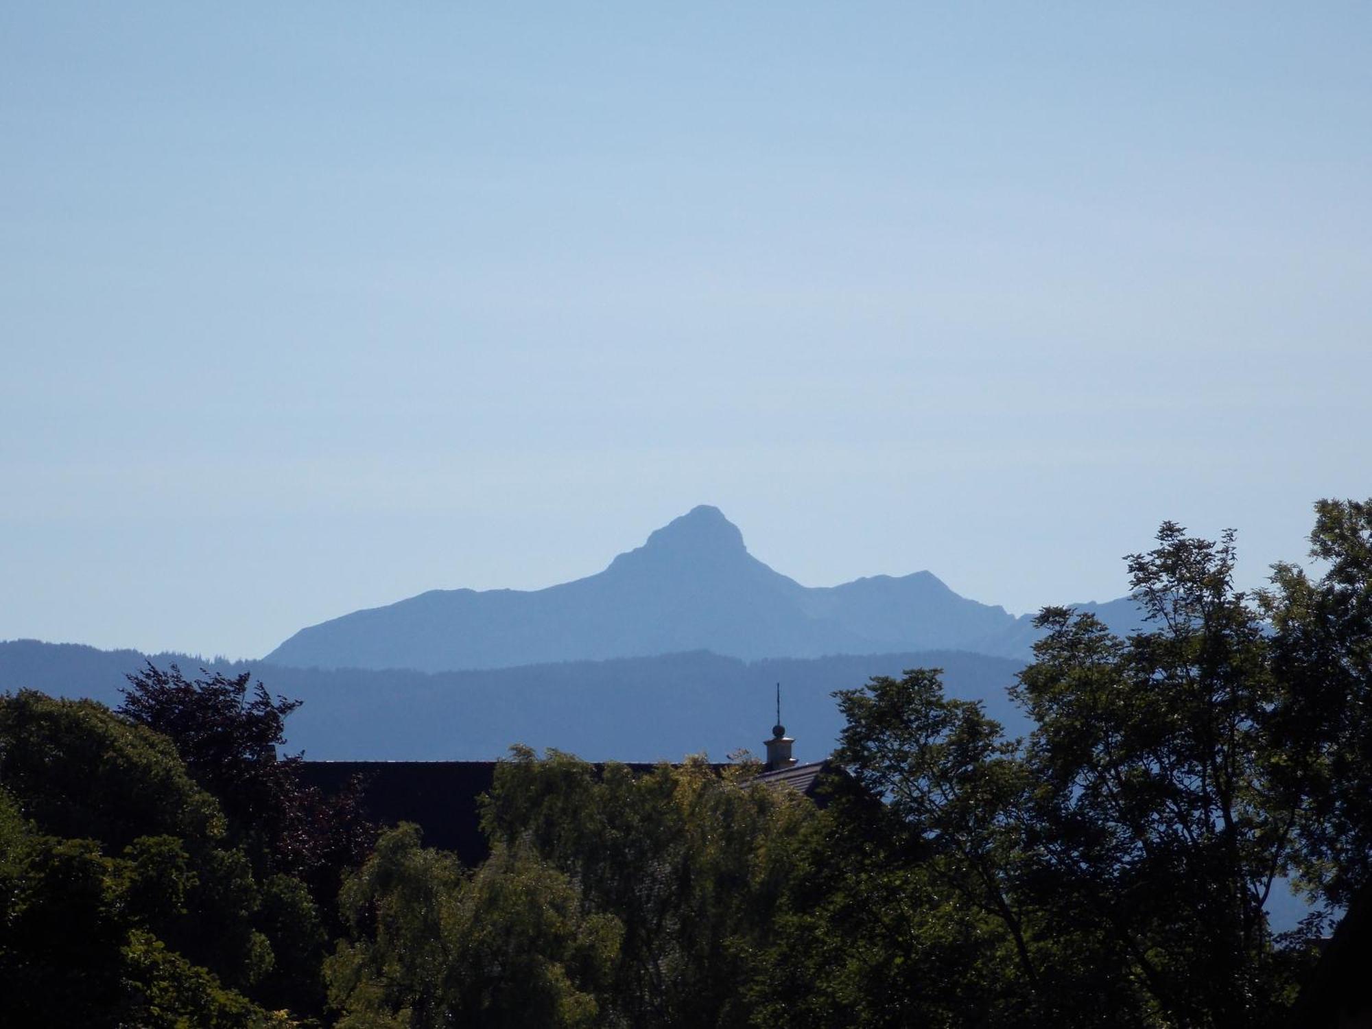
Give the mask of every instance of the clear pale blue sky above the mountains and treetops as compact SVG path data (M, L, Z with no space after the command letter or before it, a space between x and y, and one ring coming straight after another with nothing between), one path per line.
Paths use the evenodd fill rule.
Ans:
M697 504L1126 591L1372 495L1372 5L0 7L0 639L257 657Z

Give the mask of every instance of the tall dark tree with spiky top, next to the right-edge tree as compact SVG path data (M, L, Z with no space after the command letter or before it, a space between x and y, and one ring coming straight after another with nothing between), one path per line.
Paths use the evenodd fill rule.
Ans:
M1281 691L1233 564L1232 534L1165 523L1129 560L1147 631L1121 641L1045 609L1017 691L1037 724L1033 888L1099 932L1173 1025L1270 1024L1299 965L1265 912L1297 814L1272 775Z

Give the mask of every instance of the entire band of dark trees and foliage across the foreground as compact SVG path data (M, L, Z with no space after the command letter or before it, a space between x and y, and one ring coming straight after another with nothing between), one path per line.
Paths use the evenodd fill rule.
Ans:
M1142 631L1045 608L1025 738L937 670L841 690L823 809L753 763L513 748L475 870L414 826L372 849L247 675L150 667L122 718L0 697L5 1014L288 1025L327 989L354 1029L1279 1025L1372 903L1372 501L1316 513L1318 575L1246 595L1232 534L1165 523L1129 558ZM1277 936L1291 874L1320 907Z

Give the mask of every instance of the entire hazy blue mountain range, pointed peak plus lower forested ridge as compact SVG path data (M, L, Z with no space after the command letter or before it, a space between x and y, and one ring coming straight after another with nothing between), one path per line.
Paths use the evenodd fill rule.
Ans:
M1084 604L1111 628L1128 598ZM292 748L309 757L477 760L514 742L602 760L760 749L782 683L797 756L842 727L833 691L940 667L952 696L1022 727L1006 687L1039 635L1029 616L959 597L930 572L805 587L748 553L700 506L598 575L546 590L435 590L300 630L259 661L0 642L0 690L118 705L145 661L254 676L303 700Z

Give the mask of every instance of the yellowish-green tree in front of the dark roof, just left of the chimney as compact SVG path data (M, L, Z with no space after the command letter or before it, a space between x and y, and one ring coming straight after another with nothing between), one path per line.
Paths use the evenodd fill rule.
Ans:
M757 766L722 774L704 759L635 774L513 748L484 825L565 873L587 910L624 938L606 1025L745 1025L752 955L792 877L811 805L757 789Z

